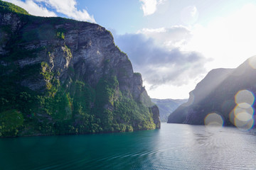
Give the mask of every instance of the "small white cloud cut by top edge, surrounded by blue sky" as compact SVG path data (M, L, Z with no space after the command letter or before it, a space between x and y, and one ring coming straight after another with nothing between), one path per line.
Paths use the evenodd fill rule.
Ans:
M156 7L165 0L139 0L142 2L144 16L149 16L156 12Z

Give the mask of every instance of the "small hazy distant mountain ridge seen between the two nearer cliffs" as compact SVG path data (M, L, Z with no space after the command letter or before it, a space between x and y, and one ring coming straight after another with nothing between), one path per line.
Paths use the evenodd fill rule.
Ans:
M175 111L178 106L180 106L182 103L185 103L188 101L188 99L157 99L157 98L151 98L151 101L153 103L156 103L156 106L159 107L159 115L160 120L162 123L166 123L168 120L169 115Z

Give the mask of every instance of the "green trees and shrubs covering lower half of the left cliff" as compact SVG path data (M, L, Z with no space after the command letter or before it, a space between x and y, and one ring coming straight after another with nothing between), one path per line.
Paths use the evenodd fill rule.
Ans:
M46 75L43 75L46 80L54 77L54 74ZM1 136L130 132L156 128L149 108L122 96L116 77L100 79L95 89L78 80L70 89L55 86L54 94L48 88L49 83L46 83L46 92L41 94L17 86L9 78L4 79L6 84L0 85Z

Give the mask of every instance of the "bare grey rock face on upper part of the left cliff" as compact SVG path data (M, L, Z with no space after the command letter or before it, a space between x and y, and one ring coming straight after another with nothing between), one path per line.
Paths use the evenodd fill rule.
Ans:
M16 59L12 63L18 67L19 72L29 72L29 67L38 69L34 76L25 77L17 81L17 84L32 91L43 92L53 79L58 79L60 84L65 84L66 87L70 87L73 79L78 79L95 88L102 77L113 75L119 82L117 91L122 91L122 95L148 107L152 106L143 87L142 76L134 74L132 63L128 56L114 45L110 31L94 23L68 20L63 22L63 18L60 18L59 22L50 21L48 18L37 21L26 17L30 16L0 14L0 26L11 28L11 34L0 29L1 40L5 38L0 44L0 55L14 54L16 50L20 50L18 55L22 56L14 56ZM58 31L64 36L58 37ZM18 38L18 41L15 38ZM14 41L13 46L9 44L7 47L6 44L11 40ZM1 63L6 64L4 61ZM42 63L47 64L45 69L49 74L54 73L54 76L50 75L47 79L43 77L39 71ZM58 76L55 76L57 73ZM116 96L113 100L116 100ZM105 108L112 111L113 106L106 103ZM156 108L157 106L152 110L154 123L160 128L159 111Z

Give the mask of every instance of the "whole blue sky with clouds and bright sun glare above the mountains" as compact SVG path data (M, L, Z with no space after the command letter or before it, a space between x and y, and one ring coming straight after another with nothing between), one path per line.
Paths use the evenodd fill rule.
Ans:
M188 98L211 69L256 55L255 0L6 1L110 30L151 98Z

